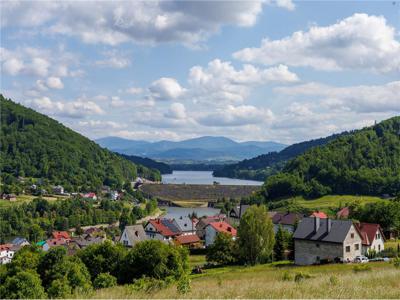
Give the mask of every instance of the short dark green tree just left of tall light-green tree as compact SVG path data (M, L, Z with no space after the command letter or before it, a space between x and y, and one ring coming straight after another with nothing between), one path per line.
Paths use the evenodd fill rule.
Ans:
M227 233L219 233L214 243L208 247L207 262L229 265L236 261L235 242Z

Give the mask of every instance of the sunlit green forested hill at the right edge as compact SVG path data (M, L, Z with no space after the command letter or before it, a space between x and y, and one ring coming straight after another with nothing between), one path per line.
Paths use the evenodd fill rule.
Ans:
M264 185L268 199L400 193L400 117L352 132L291 160Z

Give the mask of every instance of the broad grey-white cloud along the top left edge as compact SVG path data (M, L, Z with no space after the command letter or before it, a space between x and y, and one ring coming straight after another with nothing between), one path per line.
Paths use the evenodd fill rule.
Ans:
M195 45L224 25L253 26L263 3L293 9L291 1L3 1L3 27L40 27L86 43ZM48 29L47 29L48 28Z

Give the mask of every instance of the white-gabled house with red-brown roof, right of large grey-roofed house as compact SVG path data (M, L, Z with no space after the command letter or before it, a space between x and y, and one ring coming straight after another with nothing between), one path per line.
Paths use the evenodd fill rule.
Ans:
M379 253L385 248L385 236L379 224L356 223L356 228L362 236L362 254L367 255L371 251Z

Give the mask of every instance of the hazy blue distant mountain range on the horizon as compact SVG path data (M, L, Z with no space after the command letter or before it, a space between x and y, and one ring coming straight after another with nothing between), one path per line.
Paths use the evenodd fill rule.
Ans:
M235 142L226 137L203 136L179 142L146 142L105 137L96 142L111 151L163 161L232 161L280 151L286 145L276 142Z

